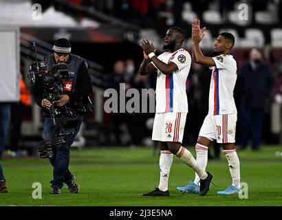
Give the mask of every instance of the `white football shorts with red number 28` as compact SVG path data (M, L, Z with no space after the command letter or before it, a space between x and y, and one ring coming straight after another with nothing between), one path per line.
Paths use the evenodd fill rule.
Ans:
M155 113L152 140L182 143L187 113Z

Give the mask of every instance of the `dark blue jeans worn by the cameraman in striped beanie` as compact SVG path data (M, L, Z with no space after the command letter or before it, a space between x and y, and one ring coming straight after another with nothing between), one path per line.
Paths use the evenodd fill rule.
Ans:
M66 129L64 132L73 131L74 134L69 135L65 144L57 145L53 149L53 157L50 158L50 163L53 168L53 180L50 181L52 186L63 187L63 183L68 184L72 181L72 173L69 171L69 151L74 142L76 134L80 129L80 125L83 121L81 117L79 124L76 129ZM44 120L44 139L52 140L55 137L55 127L52 124L50 117L45 117Z

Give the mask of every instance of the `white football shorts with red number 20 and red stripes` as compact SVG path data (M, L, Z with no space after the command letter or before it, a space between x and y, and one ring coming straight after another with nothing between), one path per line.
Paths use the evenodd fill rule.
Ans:
M199 136L217 143L235 143L237 113L228 115L206 115Z

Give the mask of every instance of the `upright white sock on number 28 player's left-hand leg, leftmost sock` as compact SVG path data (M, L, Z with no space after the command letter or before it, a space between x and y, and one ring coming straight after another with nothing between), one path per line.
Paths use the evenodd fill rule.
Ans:
M160 151L160 184L158 188L162 191L168 190L169 173L173 164L173 153L171 151Z

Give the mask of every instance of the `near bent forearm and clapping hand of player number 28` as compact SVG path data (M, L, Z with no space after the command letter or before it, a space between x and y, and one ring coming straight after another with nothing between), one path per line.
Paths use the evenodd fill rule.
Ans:
M149 41L147 39L145 39L145 40L143 39L140 43L140 46L144 50L144 54L146 54L147 56L150 53L155 52L155 47L153 46L153 43L149 43ZM174 72L178 69L178 67L175 63L171 62L171 63L166 64L166 63L160 61L157 56L153 56L151 58L151 61L155 64L155 66L158 69L160 69L160 72L162 72L165 75L171 74L172 72Z

